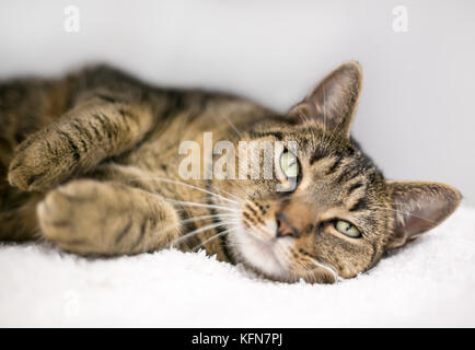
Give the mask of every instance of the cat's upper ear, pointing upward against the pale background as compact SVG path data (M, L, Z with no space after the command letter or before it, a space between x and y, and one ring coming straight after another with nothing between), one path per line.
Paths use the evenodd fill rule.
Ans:
M326 129L349 136L352 115L361 91L362 72L357 62L346 62L331 72L289 115L317 121Z

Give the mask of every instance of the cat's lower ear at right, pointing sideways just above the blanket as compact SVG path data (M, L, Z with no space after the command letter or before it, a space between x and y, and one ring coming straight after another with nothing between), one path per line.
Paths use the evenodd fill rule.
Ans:
M387 248L396 248L445 220L460 203L460 192L438 183L389 182L394 226Z

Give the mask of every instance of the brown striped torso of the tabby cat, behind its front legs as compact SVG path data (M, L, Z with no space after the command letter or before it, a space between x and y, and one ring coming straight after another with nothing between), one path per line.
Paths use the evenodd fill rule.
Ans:
M201 191L189 190L187 187L182 188L183 186L177 184L163 183L153 177L182 180L177 174L177 166L170 166L171 160L176 160L178 156L177 150L182 141L201 142L205 131L213 132L215 137L223 139L227 139L227 135L235 132L222 115L225 115L225 118L235 127L242 129L253 120L271 115L269 110L239 97L204 91L154 89L105 66L86 69L62 80L20 80L9 82L0 89L2 108L0 171L2 175L1 198L3 199L0 213L1 240L40 238L43 234L38 230L36 205L44 199L47 194L45 190L54 188L65 179L74 177L117 179L176 200L202 201L204 192ZM92 101L91 108L83 107L89 100ZM108 122L107 120L101 121L101 118L108 117L107 114L111 110L107 108L113 104L119 104L117 109L125 108L126 112L129 112L130 106L140 105L154 109L139 116L143 119L148 117L150 120L147 121L147 127L137 132L134 142L124 148L118 144L117 150L112 149L109 154L101 154L92 166L86 164L84 167L72 170L69 164L61 164L62 159L59 160L55 166L62 167L66 173L71 171L71 174L61 174L53 183L49 183L53 179L51 176L46 176L45 183L40 184L28 184L31 179L25 178L22 189L32 190L32 195L26 195L25 191L8 184L8 168L16 147L30 135L51 122L57 122L57 119L70 109L79 107L86 110L96 125L89 125L88 120L84 125L79 125L81 129L69 129L74 132L74 140L71 142L74 142L76 147L71 147L67 141L66 152L71 152L72 158L83 158L84 151L102 152L101 145L88 148L83 145L83 142L89 144L101 139L111 143L107 130L97 130L97 128L104 126L101 122ZM126 120L125 129L136 127L134 124L134 120ZM105 129L107 128L113 129L113 125L106 125ZM97 137L96 132L102 136ZM82 141L83 138L84 141ZM91 142L91 138L95 139ZM74 152L79 155L74 155ZM44 153L38 152L35 155L42 158ZM22 156L19 161L22 161ZM34 171L44 173L48 171L48 167L49 164L45 164L44 168ZM62 178L62 176L66 177ZM204 187L199 183L198 180L196 185ZM181 217L185 220L200 214L210 213L206 208L186 208ZM200 224L210 223L210 220L200 222ZM187 226L196 228L196 224L190 222ZM182 232L185 229L187 228L182 228ZM185 245L197 245L200 243L200 237L206 240L216 230L198 234ZM219 244L215 243L213 246L219 246ZM150 250L155 248L159 247L150 246ZM219 254L220 258L225 259L222 249L213 247L213 250ZM124 252L112 252L106 248L104 252L89 253L129 254L135 252L128 252L127 248Z

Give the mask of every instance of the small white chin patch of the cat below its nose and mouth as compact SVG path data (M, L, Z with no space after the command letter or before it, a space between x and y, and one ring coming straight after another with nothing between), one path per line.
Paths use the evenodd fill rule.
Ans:
M282 281L289 279L289 272L276 255L275 242L270 236L241 228L230 234L229 240L231 249L240 262L271 279Z

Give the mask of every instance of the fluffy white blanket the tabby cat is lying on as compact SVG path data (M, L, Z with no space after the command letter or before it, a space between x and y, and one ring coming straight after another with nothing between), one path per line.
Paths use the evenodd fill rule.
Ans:
M0 246L0 326L475 326L475 209L333 285L275 283L202 252L84 259Z

